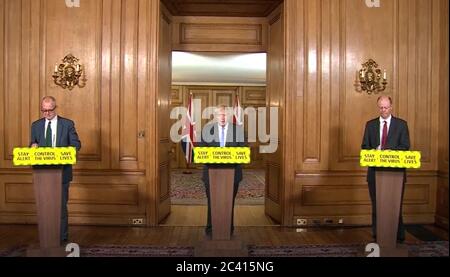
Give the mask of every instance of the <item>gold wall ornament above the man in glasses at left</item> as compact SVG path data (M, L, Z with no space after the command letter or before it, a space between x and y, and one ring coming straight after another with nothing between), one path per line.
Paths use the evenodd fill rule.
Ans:
M52 77L56 85L69 90L75 86L83 88L87 81L84 66L79 64L78 59L72 54L66 55L62 63L55 65Z

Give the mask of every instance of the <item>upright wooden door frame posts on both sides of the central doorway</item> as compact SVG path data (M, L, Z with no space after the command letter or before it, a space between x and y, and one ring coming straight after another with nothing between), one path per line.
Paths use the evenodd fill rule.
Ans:
M303 1L284 0L284 42L285 42L285 93L284 109L281 109L284 130L295 130L295 98L297 95L296 84L297 68L296 61L303 57L297 53L297 36L300 28L297 27L297 5L303 5ZM158 135L154 127L158 126L158 44L159 44L159 20L160 1L148 1L144 5L147 10L146 28L148 30L148 80L147 80L147 114L146 124L146 177L147 177L147 205L146 205L146 225L158 226ZM302 62L302 60L300 61ZM302 80L300 80L302 81ZM282 183L281 188L281 224L283 226L293 225L294 205L291 200L295 182L295 132L284 132L281 134L282 143ZM294 149L294 151L293 151Z

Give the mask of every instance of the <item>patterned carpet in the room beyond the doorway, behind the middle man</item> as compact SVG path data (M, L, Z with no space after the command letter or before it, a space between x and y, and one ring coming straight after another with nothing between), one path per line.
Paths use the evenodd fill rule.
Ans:
M201 180L201 170L191 170L183 174L174 170L171 175L171 202L175 205L206 205L205 187ZM264 171L243 170L243 180L236 196L237 205L264 204Z

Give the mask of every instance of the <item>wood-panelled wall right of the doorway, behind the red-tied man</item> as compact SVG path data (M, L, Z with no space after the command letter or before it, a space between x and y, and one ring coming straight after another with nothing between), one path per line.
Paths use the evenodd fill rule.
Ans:
M408 171L406 222L434 222L438 148L447 147L438 139L439 130L443 137L448 134L448 105L440 101L448 98L442 82L447 78L440 78L448 74L444 2L381 1L379 8L369 8L354 0L285 1L288 16L298 17L287 22L287 49L295 49L287 76L298 74L287 91L295 94L290 118L296 126L291 224L300 218L370 223L365 169L358 157L365 123L378 116L380 94L354 87L355 72L369 58L387 70L382 94L392 97L394 115L408 121L411 148L422 152L422 168ZM304 36L296 36L300 33ZM444 167L448 150L442 156ZM448 203L448 192L446 197Z

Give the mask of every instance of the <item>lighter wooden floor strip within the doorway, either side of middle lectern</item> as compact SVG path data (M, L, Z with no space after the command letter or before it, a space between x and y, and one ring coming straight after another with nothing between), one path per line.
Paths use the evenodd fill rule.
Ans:
M164 226L204 226L207 206L172 205L170 215L162 222ZM277 225L264 214L264 205L236 205L234 208L236 226Z

